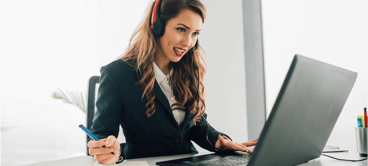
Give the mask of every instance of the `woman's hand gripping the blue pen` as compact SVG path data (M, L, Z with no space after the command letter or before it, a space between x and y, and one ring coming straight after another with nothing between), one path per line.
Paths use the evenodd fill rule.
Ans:
M120 156L120 143L115 136L108 136L107 139L101 139L100 141L89 141L88 147L90 148L88 153L94 156L95 160L101 164L111 165L118 161ZM105 147L102 147L104 146ZM111 154L114 152L115 154Z

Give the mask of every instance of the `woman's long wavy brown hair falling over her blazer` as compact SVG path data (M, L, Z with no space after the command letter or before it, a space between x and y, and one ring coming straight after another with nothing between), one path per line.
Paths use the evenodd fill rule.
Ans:
M119 57L137 71L140 80L138 84L142 87L142 101L144 97L147 99L146 115L152 116L155 111L155 92L153 91L155 83L155 73L153 70L154 57L158 51L158 37L154 35L151 29L151 17L155 0L149 4L145 18L141 24L135 29L131 35L130 43L125 52ZM167 23L170 19L175 18L183 9L190 9L198 13L204 22L206 19L206 8L200 0L162 0L160 8L160 17ZM205 90L203 85L204 74L206 73L206 64L203 59L204 50L199 45L198 51L192 54L189 50L179 62L173 62L172 68L172 90L176 96L177 104L184 107L185 103L189 104L189 110L192 113L191 119L200 122L201 114L205 112ZM192 58L193 71L192 72ZM193 73L196 85L194 83ZM199 93L199 95L198 95ZM173 106L171 106L173 108ZM180 109L177 107L176 109Z

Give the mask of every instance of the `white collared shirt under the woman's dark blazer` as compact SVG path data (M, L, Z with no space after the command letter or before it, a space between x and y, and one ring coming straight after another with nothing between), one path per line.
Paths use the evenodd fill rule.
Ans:
M171 68L170 72L165 75L156 65L155 62L153 62L153 67L154 67L154 73L155 73L155 78L156 81L158 83L158 85L160 86L163 94L165 94L167 100L169 101L170 107L176 103L176 99L175 96L173 95L173 91L171 89L171 81L170 78L174 73L173 68ZM174 106L173 108L176 108L178 106ZM178 124L182 124L185 118L185 111L182 110L172 110L173 115L175 120L178 122Z

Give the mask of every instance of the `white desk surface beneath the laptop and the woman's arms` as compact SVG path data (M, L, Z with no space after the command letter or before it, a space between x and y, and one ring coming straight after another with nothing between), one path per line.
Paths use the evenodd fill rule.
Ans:
M172 155L172 156L159 156L159 157L148 157L148 158L139 158L139 159L129 159L126 161L147 161L150 166L156 166L157 162L160 161L167 161L167 160L174 160L198 155L205 155L210 154L212 152L202 152L199 154L183 154L183 155ZM334 152L334 153L323 153L335 158L339 159L347 159L347 160L361 160L365 159L366 157L360 157L357 152ZM69 159L63 160L56 160L56 161L47 161L47 162L40 162L35 164L30 164L26 166L94 166L94 162L89 162L85 164L80 163L72 163L72 160L76 159L86 159L86 158L93 158L92 156L80 156L74 157ZM308 163L303 163L298 166L367 166L367 160L360 161L360 162L347 162L347 161L340 161L336 159L332 159L326 156L321 156L317 159L311 160Z

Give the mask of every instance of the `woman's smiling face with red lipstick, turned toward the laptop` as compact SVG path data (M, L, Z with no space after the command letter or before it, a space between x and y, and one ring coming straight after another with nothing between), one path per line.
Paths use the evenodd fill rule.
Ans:
M158 39L156 58L159 63L180 61L194 47L202 25L202 17L190 9L183 9L177 17L170 19L165 25L165 32Z

